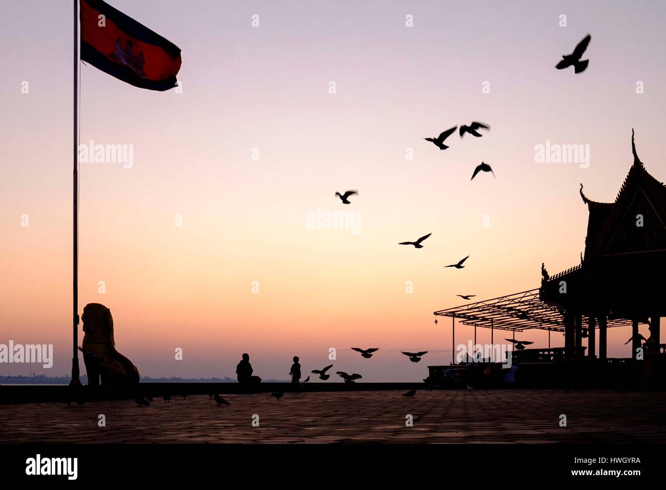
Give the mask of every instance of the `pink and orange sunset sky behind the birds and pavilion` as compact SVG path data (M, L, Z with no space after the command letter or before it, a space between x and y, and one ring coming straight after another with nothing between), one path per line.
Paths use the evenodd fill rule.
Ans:
M666 179L663 2L109 3L182 49L182 93L81 65L81 143L133 145L133 167L81 163L79 311L111 308L142 375L235 377L248 352L264 379L287 379L298 355L304 373L418 381L451 358L433 311L539 287L541 262L579 263L579 183L615 199L632 127ZM55 362L0 375L71 367L72 29L69 0L3 4L0 343L51 343ZM556 70L587 33L587 71ZM456 133L446 151L423 140L471 121L490 132ZM589 168L535 163L546 141L589 145ZM470 181L481 161L496 179ZM308 229L318 208L358 211L359 232ZM398 245L427 233L423 249ZM630 335L609 330L609 357L629 355ZM516 337L547 345L544 331ZM401 349L430 353L414 364Z

